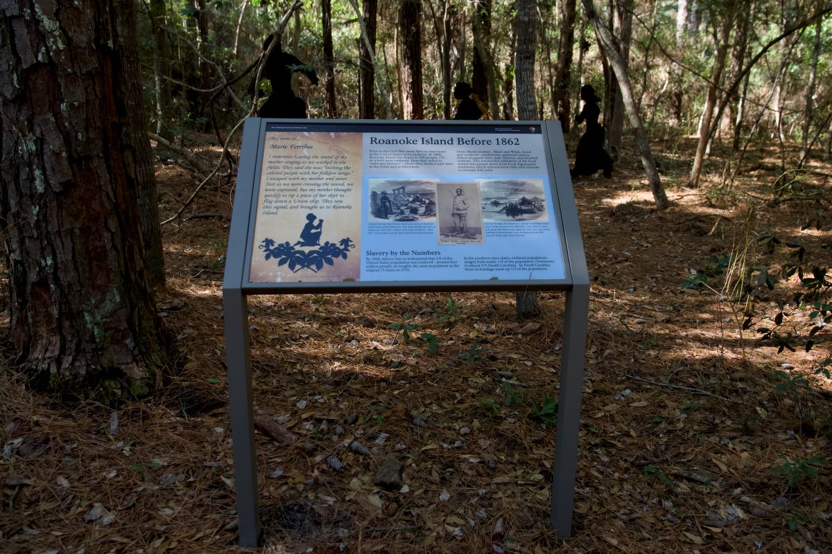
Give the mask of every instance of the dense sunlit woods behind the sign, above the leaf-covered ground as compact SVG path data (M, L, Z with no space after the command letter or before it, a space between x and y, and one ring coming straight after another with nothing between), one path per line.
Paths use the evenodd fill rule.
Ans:
M142 3L142 81L156 133L234 125L251 100L254 71L241 74L291 3ZM532 17L520 23L524 3ZM593 3L585 4L302 2L282 46L322 76L311 86L295 74L312 118L449 119L453 83L468 81L495 120L517 119L526 108L515 81L518 53L530 46L533 115L560 119L568 131L578 89L592 84L615 151L624 105L584 9ZM795 140L828 154L832 91L822 76L830 71L832 19L819 17L832 9L828 2L614 1L594 9L611 29L654 138L706 125L735 150L752 138Z

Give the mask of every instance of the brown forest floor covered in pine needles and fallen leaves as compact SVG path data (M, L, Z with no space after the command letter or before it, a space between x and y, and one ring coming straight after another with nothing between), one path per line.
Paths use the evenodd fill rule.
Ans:
M261 552L832 552L832 381L815 371L829 339L778 354L755 331L797 277L765 292L747 331L723 277L681 287L714 256L784 261L793 250L755 242L767 228L828 256L828 214L822 231L800 223L812 194L830 198L832 167L813 162L778 199L777 147L730 188L717 148L687 189L693 140L654 146L666 211L631 150L612 179L575 183L592 297L572 538L547 525L562 294L527 320L509 293L258 296L255 409L288 431L257 434ZM171 163L157 179L169 217L195 180ZM0 552L245 552L220 290L231 193L203 190L198 218L164 228L158 306L180 370L158 395L67 406L0 371ZM807 313L785 327L805 337ZM404 341L389 326L408 314ZM382 465L394 488L374 484Z

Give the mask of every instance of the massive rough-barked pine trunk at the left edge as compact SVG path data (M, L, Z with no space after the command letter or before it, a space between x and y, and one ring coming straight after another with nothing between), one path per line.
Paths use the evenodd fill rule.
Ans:
M168 358L142 255L140 201L154 182L135 4L16 0L3 12L0 217L16 363L41 390L144 394Z

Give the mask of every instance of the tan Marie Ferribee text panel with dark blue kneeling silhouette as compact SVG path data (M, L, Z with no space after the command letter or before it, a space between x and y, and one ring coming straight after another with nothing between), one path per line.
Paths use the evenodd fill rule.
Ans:
M358 281L360 133L266 133L250 282Z

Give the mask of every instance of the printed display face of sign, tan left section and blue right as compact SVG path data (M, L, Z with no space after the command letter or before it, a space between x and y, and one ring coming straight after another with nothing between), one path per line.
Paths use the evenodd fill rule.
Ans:
M245 282L562 282L541 125L265 122Z

